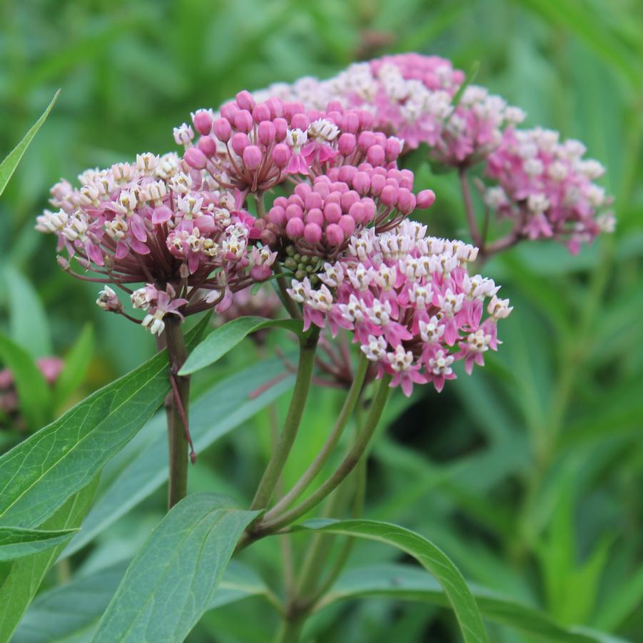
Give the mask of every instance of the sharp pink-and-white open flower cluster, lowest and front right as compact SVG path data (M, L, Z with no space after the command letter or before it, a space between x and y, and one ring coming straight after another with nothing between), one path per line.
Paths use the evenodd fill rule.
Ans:
M325 264L319 288L295 279L288 294L303 304L305 328L351 330L378 377L393 375L391 386L405 395L414 383L440 391L455 378L456 360L467 373L484 364L500 343L497 320L512 310L492 280L468 274L476 256L472 245L428 237L425 226L404 220L385 233L368 228L354 236L346 255Z

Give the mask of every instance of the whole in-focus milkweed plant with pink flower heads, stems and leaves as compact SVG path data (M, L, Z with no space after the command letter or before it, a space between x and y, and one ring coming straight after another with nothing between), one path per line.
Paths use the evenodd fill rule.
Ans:
M520 108L470 80L440 57L400 54L323 81L240 91L174 128L171 151L168 136L161 153L51 188L36 229L56 238L60 268L95 283L96 304L151 333L159 354L2 457L7 538L29 553L61 547L90 506L96 473L163 403L169 437L168 514L129 564L93 640L183 640L223 591L233 556L307 531L315 536L294 582L271 594L282 617L276 641L300 640L342 571L348 547L331 561L330 535L415 557L442 585L463 639L487 640L487 615L436 545L360 518L365 459L390 395L427 385L440 392L456 372L475 377L490 351L502 350L512 305L484 275L489 258L541 239L577 253L611 232L614 216L596 183L604 170L582 143L521 127ZM411 151L457 175L464 241L432 236L440 194L417 189L405 168ZM215 330L203 338L203 320L185 333L191 315L212 316ZM191 375L246 335L265 344L279 329L295 336L298 360L280 354L284 375L263 388L294 379L253 501L236 507L218 495L186 495L198 467ZM41 365L50 381L60 364ZM15 412L14 378L3 371L0 380L0 405ZM317 385L342 391L343 406L285 488ZM74 467L82 450L94 453L92 470ZM323 503L324 517L315 518Z

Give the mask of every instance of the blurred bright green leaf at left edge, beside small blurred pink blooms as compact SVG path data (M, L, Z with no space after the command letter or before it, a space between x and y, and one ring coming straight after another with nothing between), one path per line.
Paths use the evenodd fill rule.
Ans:
M47 421L51 411L51 390L49 390L44 376L31 355L1 333L0 360L14 376L20 410L27 424L32 429L40 428ZM4 460L4 457L0 458L0 462ZM4 494L1 495L4 496ZM4 497L0 500L0 506L3 501Z

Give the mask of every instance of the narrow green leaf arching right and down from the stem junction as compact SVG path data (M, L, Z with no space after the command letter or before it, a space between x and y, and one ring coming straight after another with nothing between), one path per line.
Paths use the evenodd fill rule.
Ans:
M444 588L450 606L460 625L465 643L487 643L487 632L480 609L462 574L441 550L426 538L404 527L376 520L308 520L295 525L293 531L313 530L355 536L398 547L414 557Z

